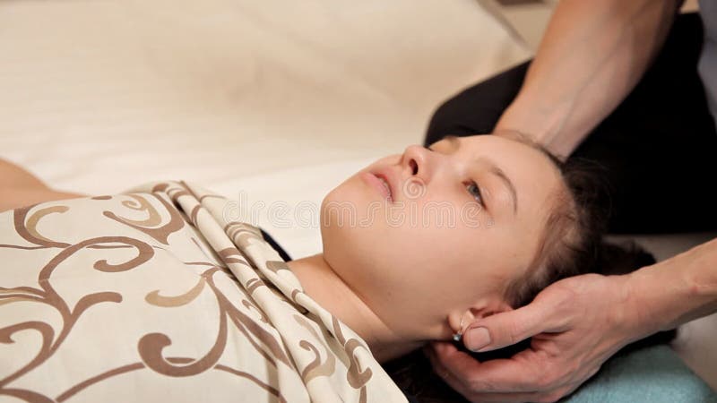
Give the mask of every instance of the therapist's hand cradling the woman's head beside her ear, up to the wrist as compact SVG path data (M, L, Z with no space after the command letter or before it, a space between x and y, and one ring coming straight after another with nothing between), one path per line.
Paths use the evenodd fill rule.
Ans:
M640 329L628 276L585 274L545 288L523 308L471 323L463 343L489 351L531 338L509 359L480 363L450 342L425 349L434 370L473 402L556 401L590 378ZM645 334L647 332L647 334Z

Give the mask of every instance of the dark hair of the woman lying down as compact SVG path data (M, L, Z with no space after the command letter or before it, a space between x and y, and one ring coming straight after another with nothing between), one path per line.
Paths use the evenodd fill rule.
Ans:
M519 139L520 140L520 139ZM530 143L530 141L522 140ZM554 194L538 252L526 273L505 289L505 300L514 308L530 304L542 289L559 279L585 273L625 274L655 262L652 254L633 244L610 244L604 240L609 222L611 190L602 178L604 168L584 159L557 159L549 151L531 144L553 161L565 184ZM658 333L624 347L622 352L665 343L675 331ZM462 344L457 347L468 352ZM513 356L530 347L530 339L488 353L471 353L480 361ZM420 351L384 364L393 381L421 402L466 401L448 387Z

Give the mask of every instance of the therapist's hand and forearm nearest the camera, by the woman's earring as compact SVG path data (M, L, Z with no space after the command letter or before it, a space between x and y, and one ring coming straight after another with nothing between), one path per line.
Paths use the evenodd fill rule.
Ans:
M453 345L426 348L436 373L471 401L556 401L577 389L609 356L637 339L717 312L717 240L624 276L563 279L535 301L472 323L488 330L479 351L532 337L510 359L479 363Z

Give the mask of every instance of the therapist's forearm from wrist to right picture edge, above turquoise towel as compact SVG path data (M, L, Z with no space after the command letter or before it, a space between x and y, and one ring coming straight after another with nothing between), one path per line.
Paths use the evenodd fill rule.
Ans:
M642 335L717 312L717 239L630 274L631 318Z

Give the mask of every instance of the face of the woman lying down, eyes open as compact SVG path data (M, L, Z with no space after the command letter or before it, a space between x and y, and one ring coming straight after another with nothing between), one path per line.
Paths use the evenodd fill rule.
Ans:
M326 195L324 259L400 335L445 337L448 313L505 308L562 188L557 167L520 141L413 145Z

